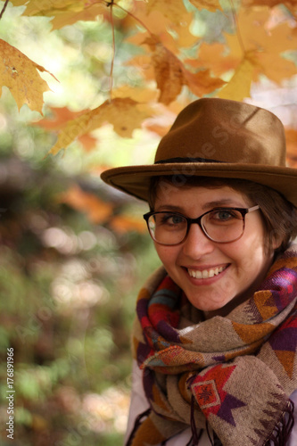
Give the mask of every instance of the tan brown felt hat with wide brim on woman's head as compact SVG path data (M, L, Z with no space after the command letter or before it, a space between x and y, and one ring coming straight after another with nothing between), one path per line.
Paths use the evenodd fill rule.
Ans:
M154 164L105 170L103 181L142 200L156 176L242 178L272 187L297 206L297 169L285 167L285 130L270 111L202 98L181 111Z

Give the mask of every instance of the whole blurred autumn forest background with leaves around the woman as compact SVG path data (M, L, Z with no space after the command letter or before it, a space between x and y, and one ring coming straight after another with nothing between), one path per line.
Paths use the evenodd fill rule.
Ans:
M122 444L136 294L159 260L145 203L104 186L103 169L153 161L177 112L202 95L276 112L297 160L296 1L118 3L0 2L2 42L54 74L43 73L41 115L0 69L4 446L10 347L14 446Z

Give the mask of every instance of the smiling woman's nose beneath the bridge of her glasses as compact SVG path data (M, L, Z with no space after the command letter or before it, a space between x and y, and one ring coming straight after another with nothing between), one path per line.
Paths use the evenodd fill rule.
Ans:
M202 255L208 254L214 249L215 243L203 233L202 228L197 223L193 223L183 243L184 254L187 257L199 259Z

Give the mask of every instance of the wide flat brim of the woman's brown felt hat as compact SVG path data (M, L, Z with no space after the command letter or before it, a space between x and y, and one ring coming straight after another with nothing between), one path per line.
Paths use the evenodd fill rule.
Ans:
M227 162L181 162L108 169L101 178L110 186L147 201L150 179L159 176L240 178L271 187L297 206L297 169Z

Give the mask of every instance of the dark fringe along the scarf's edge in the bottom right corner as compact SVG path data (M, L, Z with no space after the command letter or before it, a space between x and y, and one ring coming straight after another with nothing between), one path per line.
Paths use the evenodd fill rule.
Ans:
M276 426L272 433L268 436L268 440L264 443L264 446L270 445L270 442L274 446L285 446L289 441L289 436L292 432L294 425L294 403L289 400L285 406L285 410L282 416L276 423Z

